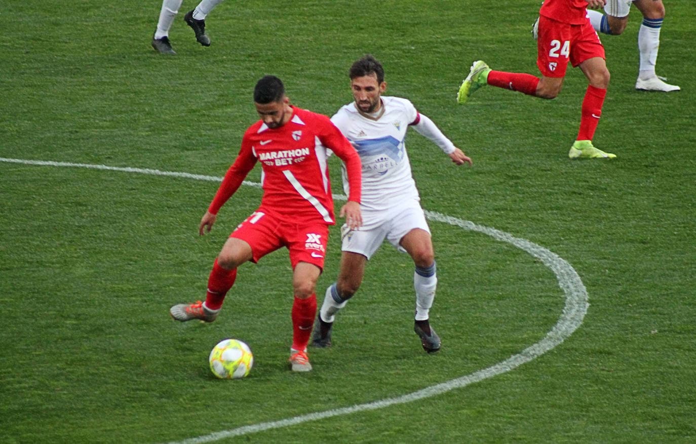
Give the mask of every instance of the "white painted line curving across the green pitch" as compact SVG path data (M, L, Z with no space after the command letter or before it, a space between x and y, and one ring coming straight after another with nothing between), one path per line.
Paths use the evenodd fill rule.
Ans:
M204 175L195 175L189 173L173 173L168 171L150 170L142 168L118 168L112 166L104 165L90 165L90 164L71 164L66 162L52 162L52 161L31 161L22 159L5 159L0 157L0 161L12 162L15 164L25 164L25 165L43 165L43 166L72 166L80 168L95 168L99 170L109 170L109 171L123 171L125 173L143 173L143 174L154 174L154 175L164 175L173 177L183 177L187 179L196 180L211 180L220 181L221 177L212 177ZM246 185L253 187L260 187L260 184L255 182L244 182ZM346 197L342 195L334 195L337 200L345 200ZM432 397L435 395L441 395L442 393L449 392L455 388L466 387L469 384L482 381L484 379L497 376L498 374L503 374L509 372L510 370L519 367L524 363L528 363L530 360L538 358L542 354L546 353L556 347L558 344L563 342L566 338L569 338L574 331L578 329L580 324L583 323L583 318L587 313L587 290L583 281L580 280L580 276L575 271L571 264L566 262L562 257L558 256L546 248L534 244L526 239L520 239L519 237L514 237L507 232L496 230L495 228L485 227L483 225L477 225L470 221L464 221L463 219L458 219L456 217L447 216L446 214L441 214L438 212L425 211L427 219L436 222L449 223L450 225L457 226L464 230L480 232L484 235L493 237L498 241L507 242L523 251L526 251L533 257L541 260L541 262L550 268L551 271L556 276L558 280L558 285L565 295L565 306L563 307L563 312L558 318L558 322L551 328L551 331L546 333L546 336L542 338L539 342L530 345L519 354L510 356L506 360L503 360L496 365L487 367L483 370L478 370L466 376L461 376L457 379L452 379L443 383L436 384L435 386L430 386L418 390L413 393L407 393L406 395L381 399L379 401L367 402L365 404L356 404L349 407L343 407L341 409L331 409L321 412L308 413L306 415L295 416L293 418L286 418L278 421L271 422L260 422L259 424L247 425L244 427L237 427L236 429L228 429L223 431L216 431L212 434L207 434L203 436L196 436L195 438L185 439L183 441L177 441L176 444L198 444L198 443L210 443L212 441L219 441L223 438L230 438L232 436L242 436L246 434L258 433L260 431L269 429L279 429L281 427L288 427L291 425L301 424L308 421L316 421L324 418L332 418L333 416L349 415L351 413L370 411L383 409L384 407L393 406L395 404L404 404L406 402L413 402L418 399L423 399L427 397Z

